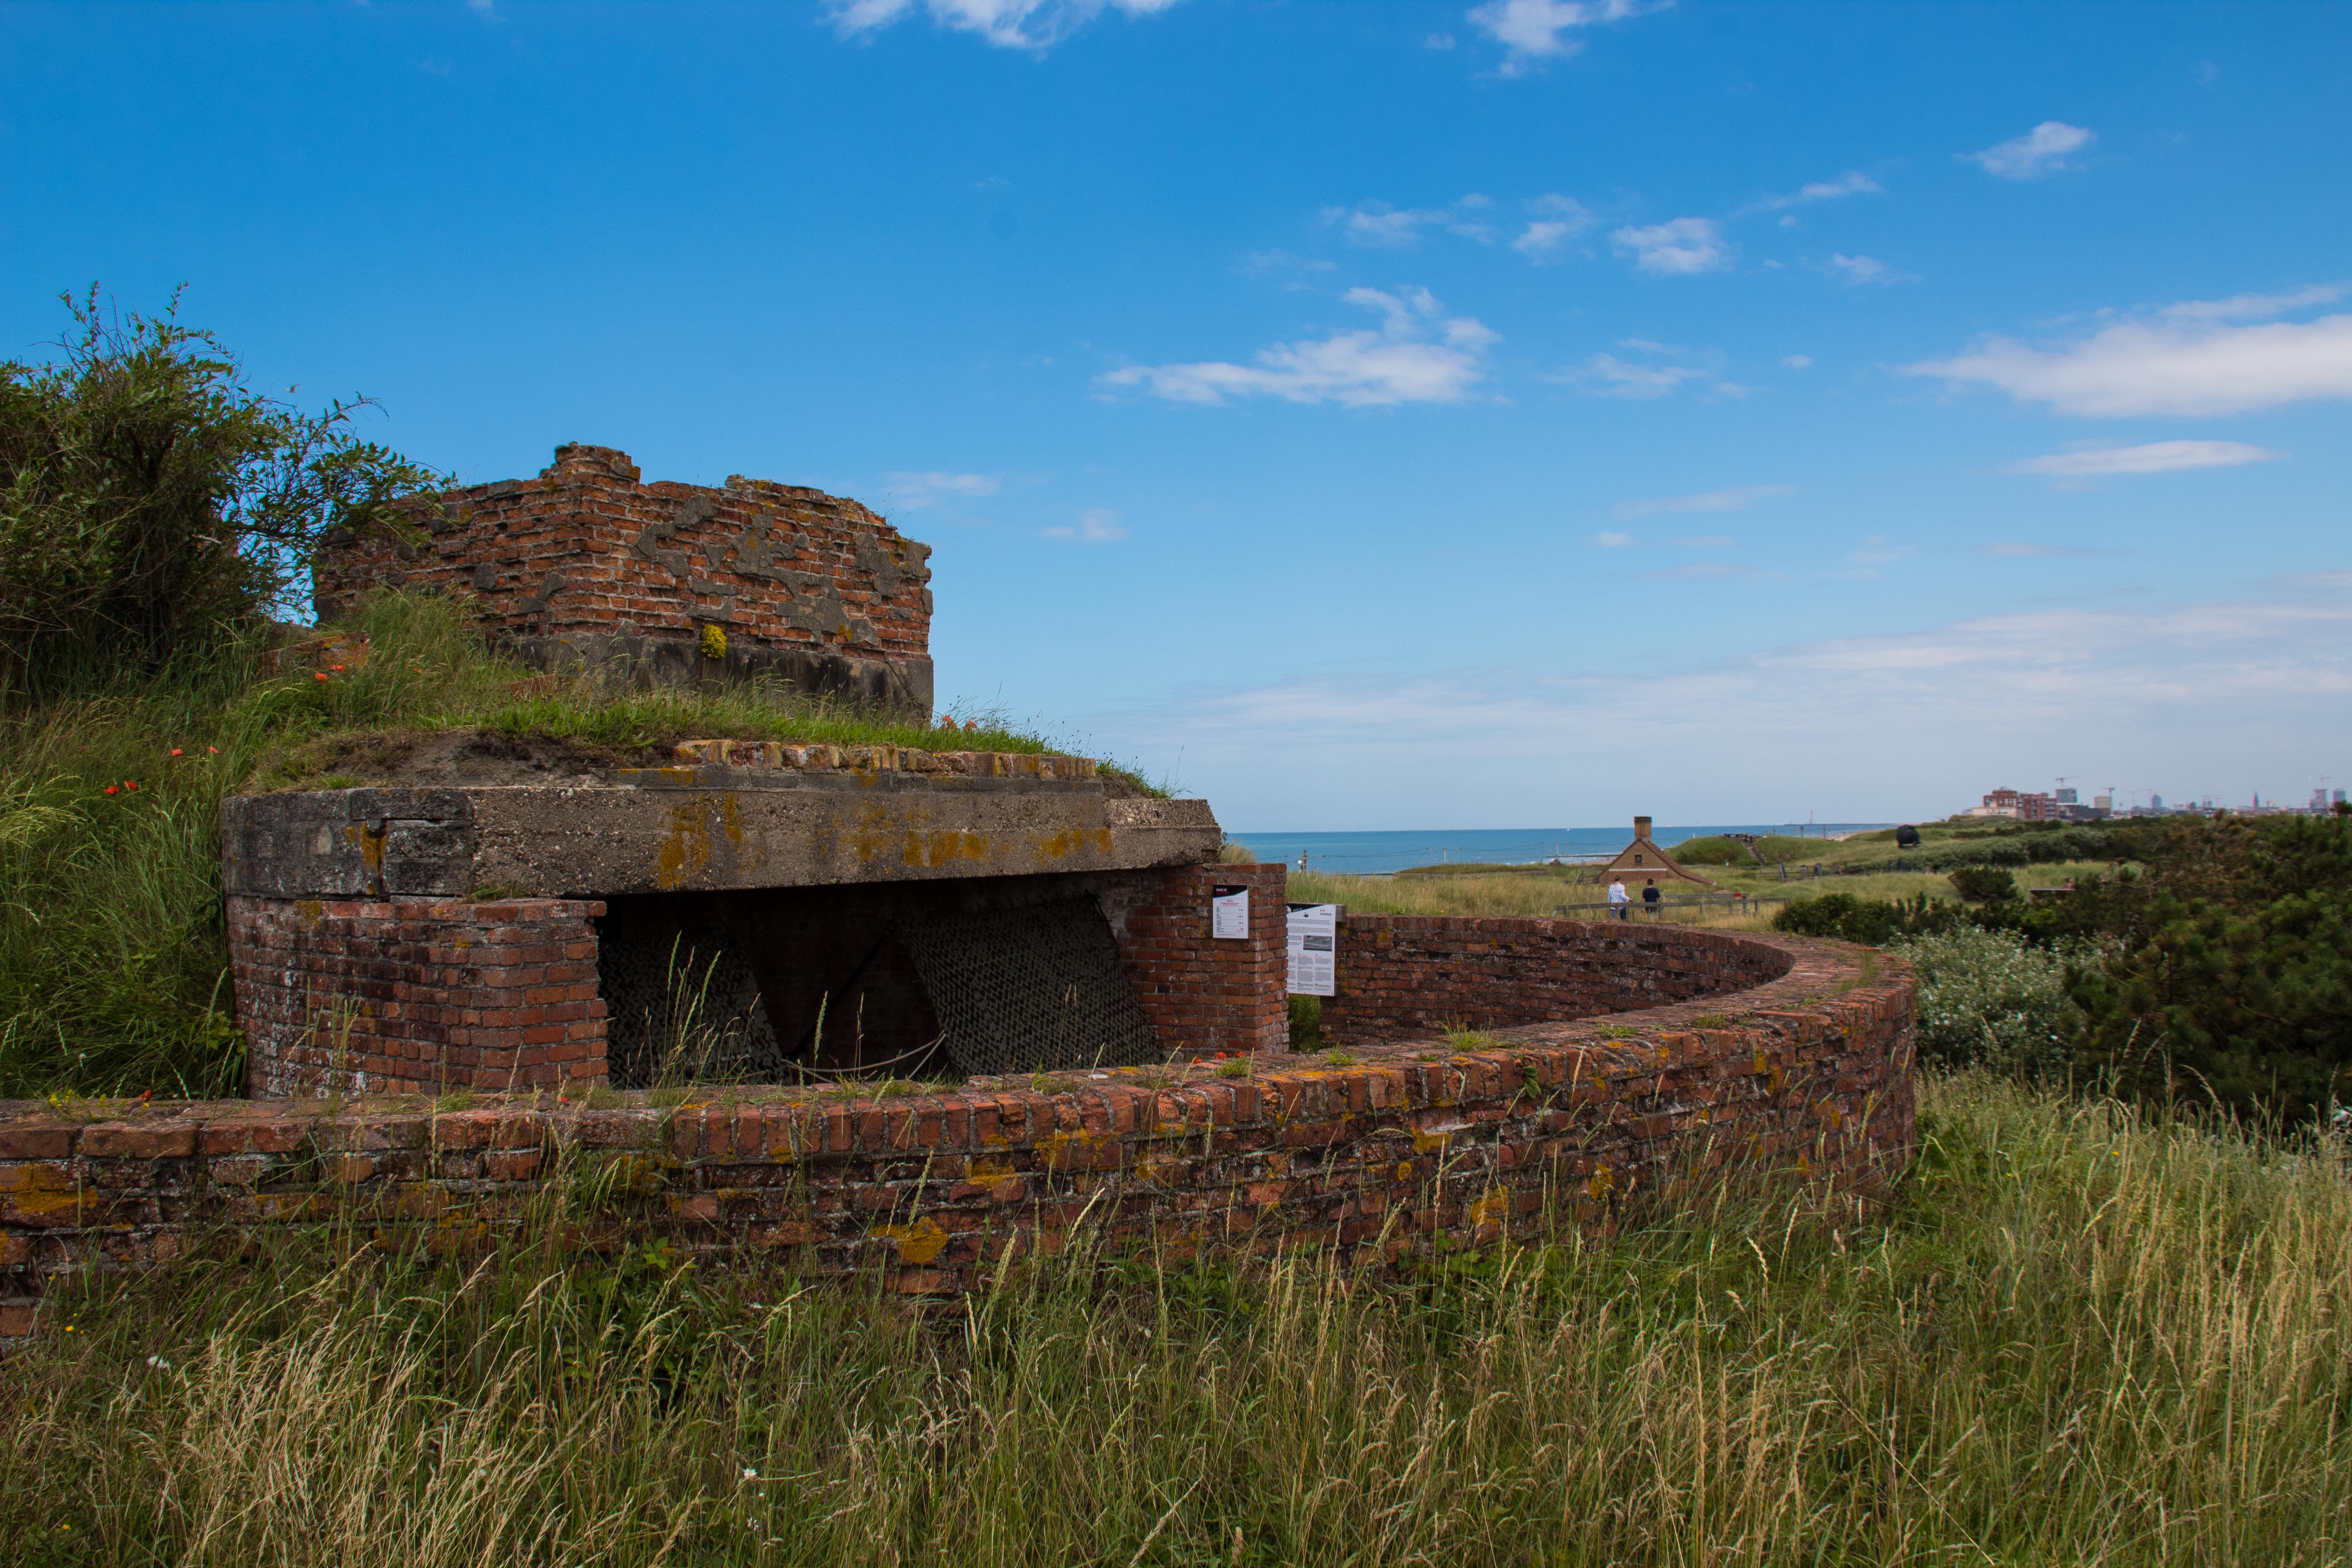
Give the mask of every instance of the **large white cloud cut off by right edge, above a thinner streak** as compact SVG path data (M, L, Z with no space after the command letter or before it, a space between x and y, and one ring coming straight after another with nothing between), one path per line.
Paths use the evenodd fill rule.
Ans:
M2230 320L2333 299L2241 294L2124 320L2058 348L1985 339L1973 353L1905 364L1912 376L1992 386L2089 418L2246 414L2312 397L2352 397L2352 315L2312 322Z

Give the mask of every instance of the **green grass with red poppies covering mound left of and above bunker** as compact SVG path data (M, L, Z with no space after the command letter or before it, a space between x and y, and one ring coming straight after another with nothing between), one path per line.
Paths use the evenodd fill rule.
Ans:
M572 679L517 701L510 684L529 670L492 656L447 599L386 595L360 623L374 656L325 682L261 679L247 644L0 710L0 1098L238 1093L221 799L360 778L388 733L489 729L614 762L708 736L1047 750L1002 722L950 733L771 686L633 693Z

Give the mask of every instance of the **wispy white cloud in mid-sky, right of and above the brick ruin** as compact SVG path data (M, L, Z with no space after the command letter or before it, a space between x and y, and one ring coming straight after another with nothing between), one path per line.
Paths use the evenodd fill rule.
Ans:
M1468 315L1446 315L1428 289L1348 289L1350 306L1381 313L1381 327L1261 348L1254 364L1129 364L1103 376L1171 402L1221 404L1228 397L1282 397L1376 407L1463 402L1484 374L1496 334Z

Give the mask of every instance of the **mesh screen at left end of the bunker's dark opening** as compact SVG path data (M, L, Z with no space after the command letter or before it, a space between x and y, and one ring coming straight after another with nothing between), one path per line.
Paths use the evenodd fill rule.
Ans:
M607 938L597 978L614 1088L771 1081L783 1067L760 980L729 947L649 933Z

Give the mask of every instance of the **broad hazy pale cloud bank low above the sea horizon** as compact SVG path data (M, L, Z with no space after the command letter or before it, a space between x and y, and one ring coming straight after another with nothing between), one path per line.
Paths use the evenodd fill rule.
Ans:
M2058 771L2241 802L2310 773L2312 736L2343 731L2347 698L2352 576L2324 574L2246 599L1987 616L1644 675L1301 675L1084 722L1134 755L1183 748L1218 820L1247 835L1392 827L1428 820L1430 802L1446 825L1524 825L1526 778L1576 823L1802 820L1809 806L1900 820L1973 804L2004 773ZM1738 757L1738 778L1628 769L1698 741Z

